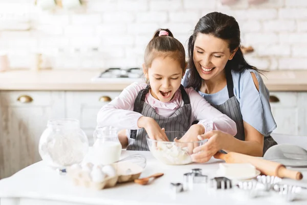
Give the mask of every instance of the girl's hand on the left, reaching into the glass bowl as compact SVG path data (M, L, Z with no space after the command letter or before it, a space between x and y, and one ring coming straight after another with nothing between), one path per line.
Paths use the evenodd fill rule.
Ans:
M160 128L155 119L151 117L142 116L138 120L139 128L144 128L150 139L155 139L158 141L169 141L164 129Z

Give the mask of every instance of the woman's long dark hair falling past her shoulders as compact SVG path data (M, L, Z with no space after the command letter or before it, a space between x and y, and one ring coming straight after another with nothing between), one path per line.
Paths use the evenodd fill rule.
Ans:
M202 85L203 79L196 70L193 61L195 39L199 33L210 34L214 37L226 40L228 42L230 52L238 48L233 58L227 61L225 66L226 73L231 72L231 70L236 72L243 72L246 69L253 69L258 71L257 68L249 65L243 56L243 53L240 49L240 29L235 18L223 13L212 12L200 18L199 22L195 26L193 34L189 38L188 68L190 69L190 76L188 77L188 83L186 87L200 88Z

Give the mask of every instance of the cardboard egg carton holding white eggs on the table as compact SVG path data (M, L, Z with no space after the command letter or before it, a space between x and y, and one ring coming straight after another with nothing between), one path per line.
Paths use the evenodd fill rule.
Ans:
M114 187L117 183L133 181L139 178L143 171L143 168L127 161L114 163L111 166L116 170L115 176L107 176L99 182L93 181L90 172L82 169L78 170L68 167L67 174L76 186L101 190Z

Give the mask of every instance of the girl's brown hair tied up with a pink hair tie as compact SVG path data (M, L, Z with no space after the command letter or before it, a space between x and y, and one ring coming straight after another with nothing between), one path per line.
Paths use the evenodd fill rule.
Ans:
M159 36L160 32L162 35ZM178 60L181 68L185 70L186 61L184 47L179 40L174 38L173 34L168 29L158 29L148 43L144 55L146 68L150 68L152 60L160 56L171 57L174 60Z

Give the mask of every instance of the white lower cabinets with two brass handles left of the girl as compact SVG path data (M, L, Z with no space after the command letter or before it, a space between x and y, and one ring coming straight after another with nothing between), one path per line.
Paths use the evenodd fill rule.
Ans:
M0 179L41 160L38 142L49 119L79 119L92 145L99 109L119 94L0 91Z

